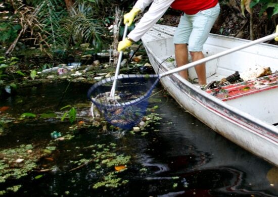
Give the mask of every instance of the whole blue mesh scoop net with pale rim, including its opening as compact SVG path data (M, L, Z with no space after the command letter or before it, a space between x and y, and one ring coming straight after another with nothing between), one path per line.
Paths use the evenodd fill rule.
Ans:
M122 129L130 129L146 114L148 98L159 81L158 75L119 75L114 96L110 95L114 77L90 87L87 96L105 119Z

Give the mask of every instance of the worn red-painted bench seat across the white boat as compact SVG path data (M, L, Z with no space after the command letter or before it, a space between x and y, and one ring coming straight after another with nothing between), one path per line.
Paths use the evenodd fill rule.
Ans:
M216 96L222 101L229 101L242 96L262 92L278 87L278 73L259 77L253 80L239 82L231 85L207 89L206 92Z

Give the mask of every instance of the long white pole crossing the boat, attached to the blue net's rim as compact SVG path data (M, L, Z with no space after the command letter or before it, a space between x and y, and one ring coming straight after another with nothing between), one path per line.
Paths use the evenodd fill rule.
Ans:
M277 26L277 27L278 27L278 26ZM212 55L212 56L208 56L208 57L203 58L203 59L201 59L201 60L197 60L197 61L195 61L195 62L191 62L191 63L189 63L189 64L180 66L180 67L178 67L178 68L169 70L169 71L167 71L167 72L165 72L165 73L160 74L160 75L159 75L159 78L164 77L164 76L166 76L166 75L173 74L173 73L177 73L177 72L179 72L179 71L189 69L189 68L191 68L191 67L197 66L197 65L202 64L202 63L205 63L205 62L208 62L208 61L210 61L210 60L213 60L213 59L216 59L216 58L220 58L220 57L222 57L222 56L225 56L225 55L228 55L228 54L231 54L231 53L240 51L240 50L242 50L243 48L247 48L247 47L249 47L249 46L252 46L252 45L255 45L255 44L258 44L258 43L261 43L261 42L270 40L270 39L273 39L274 37L277 37L277 36L278 36L278 32L273 33L273 34L271 34L271 35L264 36L264 37L259 38L259 39L256 39L256 40L253 40L253 41L248 42L248 43L246 43L246 44L242 44L242 45L240 45L240 46L236 46L236 47L234 47L234 48L230 48L229 50L220 52L220 53L218 53L218 54L214 54L214 55Z

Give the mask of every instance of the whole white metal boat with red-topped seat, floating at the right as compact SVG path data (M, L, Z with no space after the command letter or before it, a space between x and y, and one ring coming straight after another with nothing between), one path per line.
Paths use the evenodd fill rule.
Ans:
M150 63L157 74L175 68L172 36L175 27L155 25L143 37ZM205 56L250 42L210 34ZM207 83L236 71L269 67L272 74L215 89L202 90L178 73L161 77L171 96L204 124L245 150L278 166L278 46L259 43L206 63ZM197 78L194 68L189 78ZM215 144L217 145L217 144Z

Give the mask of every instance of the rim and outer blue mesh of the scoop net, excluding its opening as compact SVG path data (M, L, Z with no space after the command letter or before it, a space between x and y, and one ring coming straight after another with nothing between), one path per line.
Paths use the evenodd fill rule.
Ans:
M118 75L117 81L119 81L121 79L152 80L153 82L150 85L150 87L148 88L148 90L144 91L143 95L138 96L137 98L135 98L131 101L127 101L127 102L118 102L117 99L113 97L114 95L111 97L110 92L107 92L107 91L103 92L103 93L98 93L95 97L92 97L92 94L96 94L96 92L99 92L99 90L100 90L99 88L102 85L113 82L115 80L115 76L109 77L109 78L103 79L103 80L95 83L94 85L92 85L87 92L87 97L94 105L97 106L97 108L102 112L102 114L105 115L105 119L110 124L120 127L122 129L130 129L133 126L135 126L136 124L138 124L141 121L141 119L143 118L143 116L145 115L147 106L148 106L148 98L150 97L153 89L159 82L160 77L159 77L159 75L156 75L156 74ZM99 97L106 97L106 98L112 99L113 101L112 101L112 103L100 102ZM134 111L132 111L132 109ZM122 111L119 114L113 116L113 113L116 114L116 112L118 113L118 111L120 111L120 110L122 110ZM111 113L112 113L112 115L111 115ZM119 117L123 117L122 120L119 120L120 119Z

